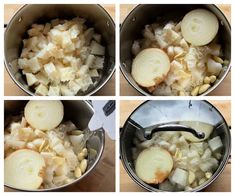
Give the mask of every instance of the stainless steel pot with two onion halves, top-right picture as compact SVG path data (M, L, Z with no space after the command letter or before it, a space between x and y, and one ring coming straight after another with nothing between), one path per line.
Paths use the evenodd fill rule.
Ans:
M141 88L131 76L131 65L133 55L131 47L134 40L142 37L142 30L146 24L159 21L179 21L190 10L204 8L213 12L220 21L219 42L222 45L224 58L231 60L231 28L228 20L221 10L212 4L158 4L158 5L138 5L125 18L120 30L120 67L123 75L129 84L143 95L151 95L144 88ZM202 95L207 95L213 91L227 76L231 65L220 75L218 81Z

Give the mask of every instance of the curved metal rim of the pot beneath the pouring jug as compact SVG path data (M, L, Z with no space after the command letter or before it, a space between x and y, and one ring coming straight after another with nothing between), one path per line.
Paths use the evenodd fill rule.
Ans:
M73 100L71 100L73 101ZM80 100L80 101L83 101L87 104L87 106L89 107L89 109L91 109L94 113L94 108L92 107L92 104L89 102L89 101L86 101L86 100ZM97 158L96 160L94 161L92 167L90 167L88 170L86 170L86 172L78 179L72 181L71 183L69 184L64 184L62 186L58 186L58 187L53 187L53 188L47 188L47 189L29 189L29 190L25 190L25 189L19 189L19 188L15 188L15 187L12 187L10 185L7 185L4 183L4 186L8 187L8 188L11 188L13 190L17 190L17 191L24 191L24 192L46 192L46 191L56 191L56 190L60 190L62 188L65 188L65 187L68 187L70 185L73 185L73 184L76 184L78 183L79 181L81 181L83 178L85 178L86 176L88 176L92 171L93 169L95 169L95 167L97 166L98 162L100 161L101 157L102 157L102 154L104 152L104 147L105 147L105 131L104 129L102 128L102 137L103 137L103 143L101 143L101 149L100 149L100 152L99 154L97 155Z

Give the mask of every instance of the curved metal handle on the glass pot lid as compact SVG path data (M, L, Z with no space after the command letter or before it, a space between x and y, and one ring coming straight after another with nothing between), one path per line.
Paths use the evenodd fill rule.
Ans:
M199 139L203 139L205 137L204 132L198 132L195 129L191 127L187 127L180 124L162 124L162 125L156 125L144 128L144 137L146 139L151 139L153 133L159 132L159 131L185 131L192 133L195 137Z

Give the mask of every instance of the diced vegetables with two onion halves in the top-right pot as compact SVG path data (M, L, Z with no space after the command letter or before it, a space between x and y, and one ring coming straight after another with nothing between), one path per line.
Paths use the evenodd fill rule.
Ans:
M200 95L223 74L217 17L205 9L187 13L179 22L146 25L132 45L132 77L153 95Z

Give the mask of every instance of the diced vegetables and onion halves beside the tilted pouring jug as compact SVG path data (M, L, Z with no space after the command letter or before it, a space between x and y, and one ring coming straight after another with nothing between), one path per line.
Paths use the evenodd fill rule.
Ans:
M29 101L24 115L11 117L4 132L4 183L33 190L80 178L88 165L84 132L62 122L60 101Z

